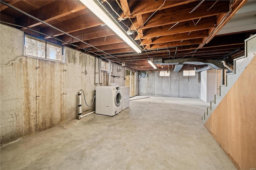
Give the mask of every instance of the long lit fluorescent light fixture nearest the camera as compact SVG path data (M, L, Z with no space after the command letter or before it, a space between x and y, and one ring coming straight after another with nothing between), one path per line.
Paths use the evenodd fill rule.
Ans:
M132 47L137 53L141 53L140 47L131 40L131 38L124 32L124 30L118 25L110 14L107 14L106 10L100 6L97 0L80 0L89 10L91 10L102 22L104 22L109 28L111 28L120 38L124 40L130 47Z

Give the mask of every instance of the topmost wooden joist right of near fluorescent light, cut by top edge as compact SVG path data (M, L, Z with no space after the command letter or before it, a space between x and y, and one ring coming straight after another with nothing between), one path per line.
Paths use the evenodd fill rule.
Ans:
M163 10L166 8L171 8L174 6L179 6L182 4L188 4L195 0L166 0L164 5L162 6L164 1L152 1L152 0L141 0L141 1L129 1L129 6L136 6L131 12L129 17L136 17L138 15L147 14L151 12L155 12L160 6L162 6L159 10ZM123 18L127 18L124 13L121 14Z

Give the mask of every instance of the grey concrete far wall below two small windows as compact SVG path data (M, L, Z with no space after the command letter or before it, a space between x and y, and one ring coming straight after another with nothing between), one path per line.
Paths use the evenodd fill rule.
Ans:
M182 71L170 71L170 77L160 77L158 71L146 74L138 78L139 95L200 98L200 73L195 77L183 77Z

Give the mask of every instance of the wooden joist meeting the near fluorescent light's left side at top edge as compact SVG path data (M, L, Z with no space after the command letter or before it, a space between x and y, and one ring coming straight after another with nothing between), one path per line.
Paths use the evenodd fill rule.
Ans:
M29 14L44 22L50 22L52 20L58 19L60 17L64 17L74 12L84 10L85 8L86 6L84 6L84 4L82 4L80 1L57 0L46 6L42 6L38 10L34 10ZM86 9L85 13L87 14L89 12L90 10ZM42 24L41 22L37 22L36 20L25 15L18 18L16 20L16 23L18 25L22 25L28 28L32 28Z

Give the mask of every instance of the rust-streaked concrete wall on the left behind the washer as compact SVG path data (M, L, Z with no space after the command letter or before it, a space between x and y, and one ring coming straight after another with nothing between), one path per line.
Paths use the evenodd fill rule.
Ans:
M86 102L92 103L94 83L100 76L98 58L68 47L64 47L65 63L26 57L24 32L0 26L1 145L77 119L80 89L85 91ZM101 82L108 85L108 72L100 73ZM95 102L87 107L82 98L82 114L92 111Z

